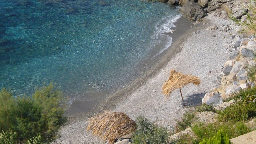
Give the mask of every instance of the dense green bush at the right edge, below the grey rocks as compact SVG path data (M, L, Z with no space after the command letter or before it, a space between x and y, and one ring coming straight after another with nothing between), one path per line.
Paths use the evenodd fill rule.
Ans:
M234 96L234 103L219 111L219 121L244 121L256 116L256 87L241 90Z

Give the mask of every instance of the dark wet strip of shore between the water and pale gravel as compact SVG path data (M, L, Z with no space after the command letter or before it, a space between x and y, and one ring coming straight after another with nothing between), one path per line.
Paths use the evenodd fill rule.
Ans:
M117 103L123 101L125 97L130 95L132 91L138 89L141 85L143 85L147 80L151 79L158 73L160 69L165 67L170 59L175 56L181 48L178 46L180 41L186 39L191 32L191 26L193 22L188 21L182 16L174 23L176 27L172 27L174 33L164 33L172 37L171 46L168 49L164 50L161 54L157 55L154 58L148 58L144 61L143 64L139 65L139 69L141 69L141 74L139 77L131 80L126 86L118 89L115 92L105 91L105 92L97 92L93 93L93 96L99 97L100 95L106 95L106 98L98 98L93 101L76 101L70 105L70 107L65 111L66 116L69 117L71 121L83 120L84 117L94 116L94 113L101 112L101 109L111 110L113 109ZM178 26L177 26L178 25ZM192 33L192 32L191 32ZM152 60L153 59L153 60ZM153 65L152 65L153 63ZM99 100L100 99L100 100ZM95 106L95 105L98 106ZM83 111L87 109L89 105L90 110Z

